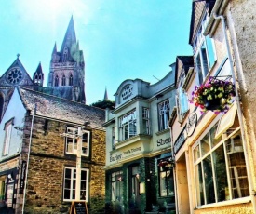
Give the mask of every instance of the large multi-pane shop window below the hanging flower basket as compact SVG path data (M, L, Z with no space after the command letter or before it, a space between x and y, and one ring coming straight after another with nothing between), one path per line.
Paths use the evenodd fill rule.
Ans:
M249 196L243 145L236 125L228 130L227 137L216 139L215 124L195 145L197 206Z

